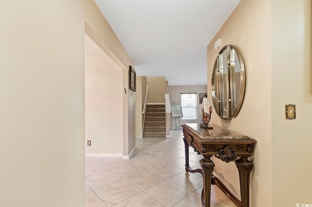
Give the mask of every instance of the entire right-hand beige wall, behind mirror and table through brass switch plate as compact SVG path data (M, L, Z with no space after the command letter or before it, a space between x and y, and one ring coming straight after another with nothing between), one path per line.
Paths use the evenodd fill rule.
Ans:
M212 122L257 140L253 207L311 203L312 165L304 158L311 156L312 144L307 129L312 110L311 6L310 0L242 0L208 46L208 80L218 52L216 39L238 46L245 58L247 86L240 113L232 121L214 115ZM285 104L296 104L296 120L285 119ZM239 192L234 164L214 162Z

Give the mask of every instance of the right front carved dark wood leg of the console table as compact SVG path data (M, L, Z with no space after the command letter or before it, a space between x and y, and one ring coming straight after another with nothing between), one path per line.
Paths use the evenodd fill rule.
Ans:
M240 196L242 207L249 207L249 182L250 172L253 170L254 164L247 157L242 157L235 160L236 167L239 173Z

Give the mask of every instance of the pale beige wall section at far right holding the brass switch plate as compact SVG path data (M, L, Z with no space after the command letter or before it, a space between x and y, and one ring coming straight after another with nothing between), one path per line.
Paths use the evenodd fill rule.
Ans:
M272 1L273 207L311 204L311 0ZM285 119L296 105L296 120Z

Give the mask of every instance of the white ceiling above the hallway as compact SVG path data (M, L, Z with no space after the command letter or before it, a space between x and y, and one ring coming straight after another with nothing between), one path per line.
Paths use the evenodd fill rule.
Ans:
M138 76L207 85L207 45L240 0L95 0Z

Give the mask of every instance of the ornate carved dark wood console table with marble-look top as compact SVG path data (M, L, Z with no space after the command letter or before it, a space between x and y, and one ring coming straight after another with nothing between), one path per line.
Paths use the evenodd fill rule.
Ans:
M210 124L213 129L205 129L197 123L183 124L185 145L185 169L190 173L201 173L204 181L202 191L202 206L210 207L210 192L212 185L212 173L215 163L211 157L224 162L235 161L239 173L241 206L249 207L249 183L250 172L254 164L248 160L253 155L256 140L240 133ZM199 160L201 169L191 169L189 166L189 146L197 153L204 156Z

